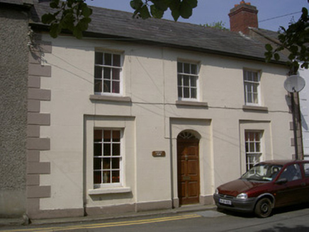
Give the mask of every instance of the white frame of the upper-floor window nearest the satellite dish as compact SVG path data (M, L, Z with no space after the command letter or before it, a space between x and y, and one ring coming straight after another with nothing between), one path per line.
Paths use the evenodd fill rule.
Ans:
M257 81L254 81L253 75L257 75ZM261 105L261 72L252 69L243 69L245 105ZM254 86L257 90L254 91ZM257 95L257 103L254 103L254 95ZM248 99L252 99L249 102Z

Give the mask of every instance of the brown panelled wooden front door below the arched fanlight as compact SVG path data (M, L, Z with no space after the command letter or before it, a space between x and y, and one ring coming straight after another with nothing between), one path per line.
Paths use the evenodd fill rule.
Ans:
M198 139L177 138L179 204L197 204L200 197Z

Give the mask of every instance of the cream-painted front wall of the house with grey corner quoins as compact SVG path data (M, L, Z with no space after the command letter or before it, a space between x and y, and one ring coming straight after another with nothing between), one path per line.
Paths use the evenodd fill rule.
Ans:
M201 195L211 196L215 187L238 178L244 170L245 129L264 129L264 158L291 158L293 147L286 91L286 70L281 66L246 59L108 40L52 41L52 54L45 65L52 77L41 79L41 88L52 91L50 102L41 102L41 112L50 113L50 127L41 127L41 137L50 138L50 151L40 161L51 163L51 174L41 185L51 185L50 198L40 199L41 209L160 202L177 198L176 137L184 129L201 135ZM94 51L117 50L124 54L123 92L132 104L96 101ZM200 65L201 101L209 107L180 107L177 99L177 60ZM268 112L247 112L242 69L262 71L262 106ZM92 185L92 137L96 127L125 131L123 189L117 195L89 195ZM172 145L172 147L171 147ZM152 151L165 151L163 158ZM173 170L172 170L173 169Z

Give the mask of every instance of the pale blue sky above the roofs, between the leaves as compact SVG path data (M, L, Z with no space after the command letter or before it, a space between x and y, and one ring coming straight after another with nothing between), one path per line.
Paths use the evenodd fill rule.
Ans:
M235 4L241 0L198 0L198 6L193 9L193 15L189 19L179 18L178 21L204 25L222 21L225 28L230 28L228 13ZM308 0L246 0L256 6L259 28L267 30L279 30L280 26L288 28L291 20L298 21L303 7L309 8ZM86 0L90 6L99 6L118 11L133 13L130 0ZM173 20L169 12L164 13L164 18Z

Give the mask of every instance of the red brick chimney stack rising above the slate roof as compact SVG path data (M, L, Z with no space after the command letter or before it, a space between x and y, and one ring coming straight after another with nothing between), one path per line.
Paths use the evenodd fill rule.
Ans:
M248 35L248 27L259 27L257 12L259 12L257 7L251 6L249 2L240 1L240 4L235 5L228 14L230 16L230 30L235 32L241 31Z

